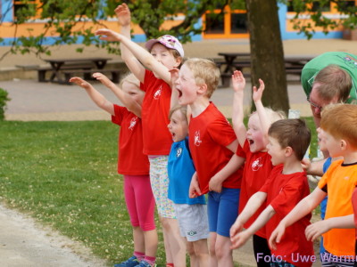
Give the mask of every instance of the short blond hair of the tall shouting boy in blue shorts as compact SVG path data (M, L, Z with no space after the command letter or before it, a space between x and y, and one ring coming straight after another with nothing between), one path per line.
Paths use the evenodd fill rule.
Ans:
M206 59L192 58L185 61L184 65L192 71L196 85L207 85L205 95L211 98L220 81L220 69L217 68L216 63Z

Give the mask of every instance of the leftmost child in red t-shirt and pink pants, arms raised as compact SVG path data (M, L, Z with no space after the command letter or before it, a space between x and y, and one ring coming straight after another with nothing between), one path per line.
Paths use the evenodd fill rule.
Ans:
M112 123L120 125L118 173L124 177L124 194L133 227L135 250L127 262L139 264L140 261L151 261L156 255L158 239L154 223L154 196L148 175L149 162L143 154L140 117L145 93L139 89L139 81L132 74L123 78L119 87L101 73L95 73L94 77L110 88L127 108L108 101L80 77L72 77L70 82L83 87L99 108L112 115Z

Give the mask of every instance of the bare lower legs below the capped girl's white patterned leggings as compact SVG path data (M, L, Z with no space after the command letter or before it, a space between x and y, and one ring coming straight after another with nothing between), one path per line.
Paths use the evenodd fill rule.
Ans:
M162 218L162 231L164 234L164 239L166 237L168 243L168 248L170 251L170 256L172 259L171 263L174 263L175 267L185 267L186 266L186 244L185 240L179 234L179 223L176 219ZM166 245L165 245L166 250ZM169 259L167 258L167 262Z

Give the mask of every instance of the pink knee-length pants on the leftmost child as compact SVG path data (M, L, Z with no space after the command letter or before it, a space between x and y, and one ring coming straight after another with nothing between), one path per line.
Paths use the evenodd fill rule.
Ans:
M127 202L130 223L140 226L142 231L155 229L155 200L149 175L123 175L124 195Z

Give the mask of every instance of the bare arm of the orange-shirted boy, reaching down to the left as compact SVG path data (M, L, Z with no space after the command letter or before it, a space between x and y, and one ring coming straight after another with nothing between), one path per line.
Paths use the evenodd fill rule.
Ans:
M320 204L323 198L325 198L327 194L320 190L317 187L315 190L311 192L311 194L305 198L303 198L294 208L293 210L285 216L285 218L278 224L278 227L271 233L269 239L269 245L273 249L277 249L277 243L282 239L286 227L292 225L297 222L306 214L311 213L311 211Z

